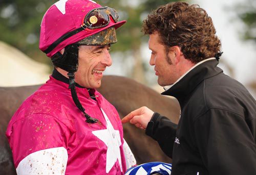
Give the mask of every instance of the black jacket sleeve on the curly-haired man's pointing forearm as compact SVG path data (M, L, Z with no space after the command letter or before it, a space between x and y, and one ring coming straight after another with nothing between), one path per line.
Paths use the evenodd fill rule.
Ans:
M146 135L158 142L162 151L173 158L173 145L176 137L177 124L168 118L154 113L146 127Z

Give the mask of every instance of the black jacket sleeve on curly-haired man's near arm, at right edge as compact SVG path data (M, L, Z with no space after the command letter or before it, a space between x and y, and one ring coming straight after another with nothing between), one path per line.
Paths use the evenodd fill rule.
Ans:
M209 174L256 174L256 144L243 116L210 109L195 120L194 131Z

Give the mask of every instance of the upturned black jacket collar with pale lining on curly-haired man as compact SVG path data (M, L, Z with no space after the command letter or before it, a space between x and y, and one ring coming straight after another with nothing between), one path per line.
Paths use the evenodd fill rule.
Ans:
M221 68L217 67L218 64L219 62L216 59L208 59L207 61L195 65L194 68L188 70L181 79L161 94L176 97L182 109L189 94L191 94L203 80L223 72Z

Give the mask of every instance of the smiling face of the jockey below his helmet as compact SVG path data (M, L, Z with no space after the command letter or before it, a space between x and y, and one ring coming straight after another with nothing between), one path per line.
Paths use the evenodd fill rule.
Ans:
M80 45L78 70L75 81L83 87L94 89L101 86L103 71L112 65L110 45Z

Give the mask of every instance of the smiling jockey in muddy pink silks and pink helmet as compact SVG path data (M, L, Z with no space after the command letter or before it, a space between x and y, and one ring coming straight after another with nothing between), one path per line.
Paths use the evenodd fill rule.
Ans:
M124 23L91 0L60 0L47 10L39 48L53 73L6 131L17 174L124 174L136 164L116 109L95 90Z

